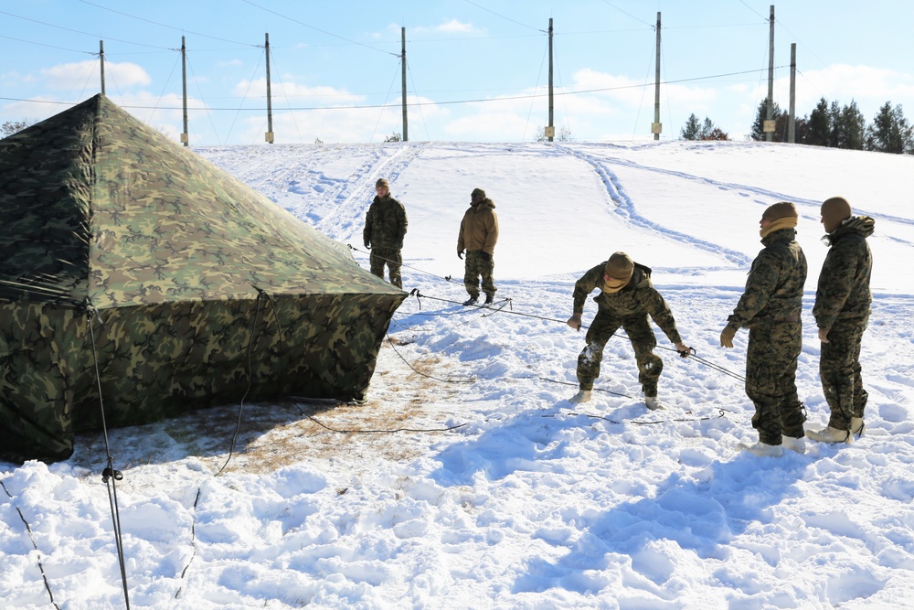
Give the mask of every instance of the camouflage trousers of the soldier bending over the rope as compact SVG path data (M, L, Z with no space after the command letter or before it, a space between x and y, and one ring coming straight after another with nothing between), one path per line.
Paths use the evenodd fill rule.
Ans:
M647 314L635 316L617 316L609 310L600 308L597 316L590 323L587 331L587 345L578 357L578 383L581 390L592 390L593 381L600 377L600 362L603 359L603 348L612 334L625 330L634 348L634 358L638 362L638 381L645 396L657 395L657 380L664 370L664 361L654 354L657 337L647 321Z

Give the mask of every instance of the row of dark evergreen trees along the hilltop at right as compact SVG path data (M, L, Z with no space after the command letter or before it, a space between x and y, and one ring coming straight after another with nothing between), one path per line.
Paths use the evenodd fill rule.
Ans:
M750 139L765 139L763 128L767 116L768 101L763 100L752 123ZM772 118L775 127L772 141L787 142L789 113L782 111L775 102ZM829 103L820 98L812 112L795 119L794 130L796 144L914 155L914 126L905 118L901 105L893 107L891 102L883 104L873 122L867 124L863 112L853 100L842 106L836 100ZM685 122L679 136L683 140L729 140L728 134L713 121L707 117L704 122L699 121L694 113Z

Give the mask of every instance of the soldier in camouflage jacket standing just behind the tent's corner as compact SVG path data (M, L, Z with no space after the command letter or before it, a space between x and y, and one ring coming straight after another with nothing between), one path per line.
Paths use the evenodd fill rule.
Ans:
M384 265L388 265L390 284L403 287L400 265L403 264L403 238L406 236L406 209L397 199L390 197L390 183L379 178L375 183L377 196L371 202L365 217L362 240L371 249L371 273L384 278Z

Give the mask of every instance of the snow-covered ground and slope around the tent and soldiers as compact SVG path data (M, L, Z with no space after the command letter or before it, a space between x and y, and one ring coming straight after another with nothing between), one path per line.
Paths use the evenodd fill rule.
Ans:
M133 607L914 607L914 157L686 142L197 152L365 267L363 219L388 177L418 294L365 405L245 404L239 418L234 404L109 433ZM501 224L496 298L511 301L497 311L456 305L473 187ZM826 423L810 310L818 209L835 195L877 219L866 434L741 453L757 440L748 333L726 351L718 336L779 200L801 210L810 265L798 386L807 427ZM658 329L664 411L644 408L624 338L596 400L567 401L574 282L620 250L654 269L707 361L678 358ZM0 606L123 607L104 446L85 434L66 462L0 464Z

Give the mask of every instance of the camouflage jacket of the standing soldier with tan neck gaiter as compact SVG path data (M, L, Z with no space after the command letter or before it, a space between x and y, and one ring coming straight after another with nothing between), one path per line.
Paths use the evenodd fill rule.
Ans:
M806 257L796 230L776 230L763 239L764 250L752 261L746 290L728 326L751 328L771 322L800 320Z

